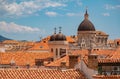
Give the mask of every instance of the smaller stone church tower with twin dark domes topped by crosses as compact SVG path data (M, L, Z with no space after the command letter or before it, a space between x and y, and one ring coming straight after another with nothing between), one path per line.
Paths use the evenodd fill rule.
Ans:
M50 36L48 45L50 47L49 51L54 53L54 60L66 56L69 45L66 36L61 33L61 27L59 27L59 32L57 34L55 28L55 33Z

